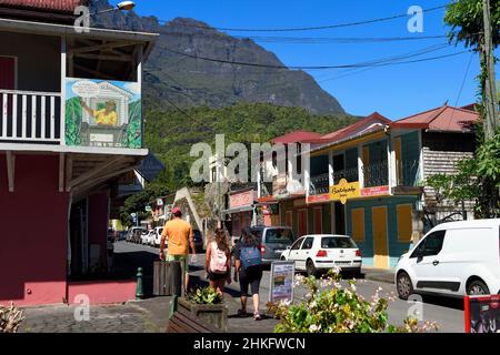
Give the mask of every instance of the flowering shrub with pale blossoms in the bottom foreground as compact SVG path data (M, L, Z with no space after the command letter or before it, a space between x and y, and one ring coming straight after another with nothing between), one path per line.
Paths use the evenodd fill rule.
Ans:
M414 333L437 328L434 324L419 326L418 321L408 317L404 325L397 327L388 322L388 300L380 297L379 287L371 302L357 293L354 280L347 286L340 283L338 270L330 271L324 277L296 276L296 285L308 288L306 300L300 303L268 304L280 323L276 333Z

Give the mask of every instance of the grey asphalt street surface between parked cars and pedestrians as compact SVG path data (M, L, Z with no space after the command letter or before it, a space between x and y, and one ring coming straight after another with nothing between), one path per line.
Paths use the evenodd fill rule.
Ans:
M157 258L158 248L153 248L144 245L130 244L126 242L116 243L116 253L118 255L147 255L149 254L151 258ZM203 255L197 255L196 263L191 263L191 275L193 276L193 283L206 283L204 271L203 271ZM269 285L270 285L270 272L264 271L262 282L261 282L261 304L266 304L269 297ZM357 282L357 288L359 294L369 300L377 291L381 287L380 296L391 297L393 301L389 302L388 314L389 322L394 325L400 325L402 320L407 317L408 314L414 314L413 311L417 308L419 314L422 315L423 321L437 322L440 332L446 333L463 333L463 305L459 300L447 298L447 297L431 297L426 296L423 300L420 297L421 302L406 302L399 300L396 296L396 287L393 284L376 282L371 280L359 280ZM239 285L232 283L227 287L227 293L233 297L233 305L238 304ZM303 287L298 287L294 292L294 300L300 301L306 295L306 290ZM416 296L419 297L419 296Z

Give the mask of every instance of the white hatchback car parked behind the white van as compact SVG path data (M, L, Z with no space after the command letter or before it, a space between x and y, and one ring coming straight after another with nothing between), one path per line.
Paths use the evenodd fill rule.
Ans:
M297 271L316 275L333 267L361 273L361 251L348 235L312 234L298 239L281 253L281 260L294 261Z

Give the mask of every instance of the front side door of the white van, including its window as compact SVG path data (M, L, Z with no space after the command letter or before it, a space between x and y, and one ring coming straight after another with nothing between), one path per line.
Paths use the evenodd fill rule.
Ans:
M442 250L446 231L437 231L419 243L410 255L416 280L416 290L446 292L440 280L439 253Z

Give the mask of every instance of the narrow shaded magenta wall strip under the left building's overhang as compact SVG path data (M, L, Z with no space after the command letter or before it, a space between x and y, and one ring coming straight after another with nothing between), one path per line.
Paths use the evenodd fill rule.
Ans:
M90 244L100 245L101 262L102 265L104 265L104 267L107 267L108 265L107 236L108 236L108 194L103 192L89 196L89 253L90 253Z

